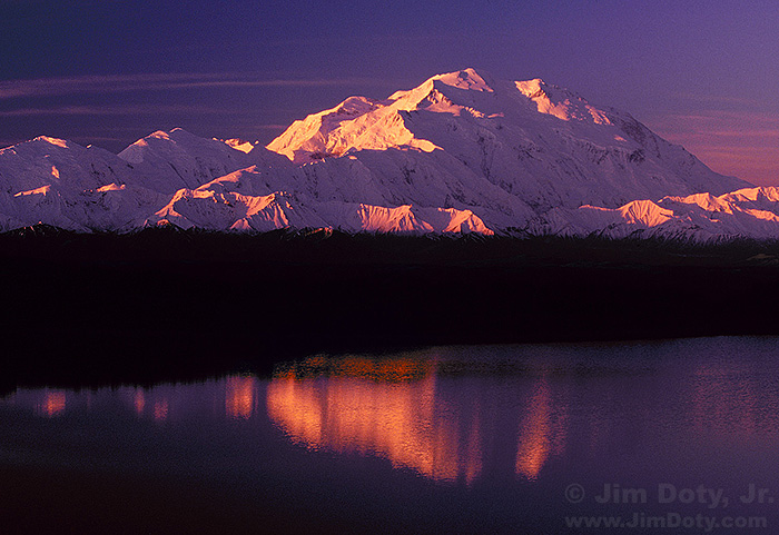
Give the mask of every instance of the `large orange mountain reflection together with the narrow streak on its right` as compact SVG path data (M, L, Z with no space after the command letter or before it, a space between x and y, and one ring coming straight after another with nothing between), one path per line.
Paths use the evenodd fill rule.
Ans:
M486 458L504 449L495 440L511 444L514 472L527 479L564 450L566 408L543 369L496 389L440 364L420 355L309 358L276 373L268 415L308 448L385 457L440 482L476 480L500 462Z

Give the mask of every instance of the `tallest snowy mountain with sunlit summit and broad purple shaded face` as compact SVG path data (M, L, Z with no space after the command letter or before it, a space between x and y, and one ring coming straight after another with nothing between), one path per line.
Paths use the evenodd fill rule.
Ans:
M500 81L473 69L386 100L352 97L296 121L268 149L298 165L351 156L381 184L396 185L396 204L441 206L443 197L443 206L473 208L499 227L512 226L505 219L520 227L531 214L561 206L615 208L750 186L711 171L628 113L595 108L542 80ZM410 172L420 170L425 188L446 195L425 198L416 185L404 190Z

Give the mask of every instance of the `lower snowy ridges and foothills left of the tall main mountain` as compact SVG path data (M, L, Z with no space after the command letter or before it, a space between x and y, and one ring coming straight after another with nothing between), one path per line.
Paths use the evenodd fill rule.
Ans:
M210 230L493 234L467 210L375 206L361 195L348 202L308 197L306 172L264 147L243 149L180 129L155 132L120 157L53 138L9 147L0 150L0 230L46 222L124 232L170 222ZM233 170L244 165L250 166ZM296 180L303 192L285 192Z

